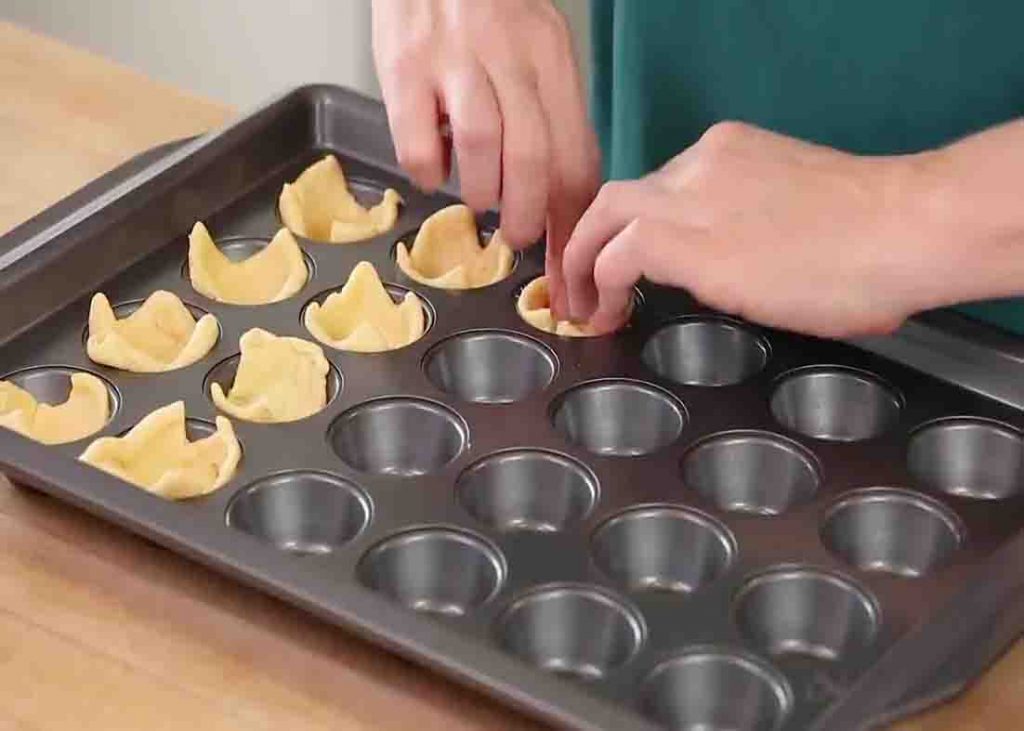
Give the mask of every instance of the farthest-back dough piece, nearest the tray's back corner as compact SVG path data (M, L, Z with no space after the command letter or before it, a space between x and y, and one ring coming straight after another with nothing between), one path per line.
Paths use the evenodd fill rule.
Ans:
M278 199L281 218L292 231L314 241L348 244L391 230L401 196L388 188L371 209L348 189L341 163L328 155L285 183Z

